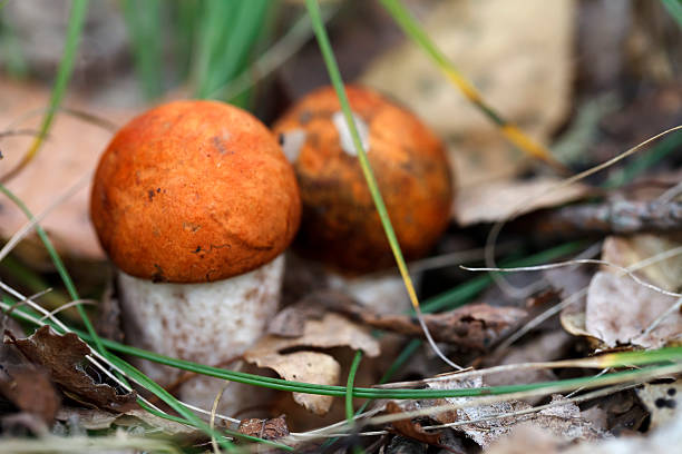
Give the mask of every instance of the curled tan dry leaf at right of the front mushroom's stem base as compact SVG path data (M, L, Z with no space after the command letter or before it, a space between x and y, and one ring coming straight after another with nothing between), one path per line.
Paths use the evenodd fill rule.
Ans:
M368 356L379 355L379 343L368 330L338 314L325 314L322 319L308 319L303 335L295 338L267 335L244 353L244 359L259 367L274 369L284 379L335 385L341 366L330 355L318 352L283 353L290 348L332 348L348 346ZM294 401L309 411L323 415L333 397L293 393Z

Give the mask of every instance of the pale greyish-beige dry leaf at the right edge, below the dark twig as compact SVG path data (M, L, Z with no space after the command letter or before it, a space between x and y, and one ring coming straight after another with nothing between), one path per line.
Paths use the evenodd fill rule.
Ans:
M610 347L635 344L657 348L682 339L680 312L670 314L644 334L675 302L675 297L646 288L630 277L598 272L587 290L585 329Z

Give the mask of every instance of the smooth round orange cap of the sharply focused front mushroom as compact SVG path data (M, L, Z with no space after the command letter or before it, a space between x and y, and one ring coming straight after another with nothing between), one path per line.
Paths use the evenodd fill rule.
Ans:
M260 267L293 239L301 199L272 132L215 101L134 118L104 152L90 197L99 240L125 273L202 283Z

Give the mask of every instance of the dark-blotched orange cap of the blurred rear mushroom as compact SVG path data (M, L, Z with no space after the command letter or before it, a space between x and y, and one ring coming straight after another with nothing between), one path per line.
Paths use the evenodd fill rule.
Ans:
M369 128L367 157L407 259L428 253L447 228L452 177L441 141L413 114L386 97L347 86L351 109ZM345 152L332 116L332 87L300 100L274 125L304 130L293 162L303 216L298 249L347 273L388 267L393 257L359 159Z

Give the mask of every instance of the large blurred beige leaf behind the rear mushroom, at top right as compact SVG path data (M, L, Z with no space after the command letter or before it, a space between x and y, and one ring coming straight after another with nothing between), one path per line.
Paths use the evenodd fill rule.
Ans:
M423 19L436 46L504 117L546 141L569 108L574 2L439 2ZM523 51L519 51L523 49ZM407 41L369 66L361 81L413 109L447 140L460 187L514 174L520 152Z

